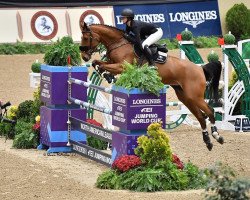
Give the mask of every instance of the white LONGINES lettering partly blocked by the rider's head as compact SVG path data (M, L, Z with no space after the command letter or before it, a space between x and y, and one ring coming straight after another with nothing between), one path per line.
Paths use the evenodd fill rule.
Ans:
M121 15L116 16L117 24L122 24L121 21ZM135 15L135 19L143 22L148 23L164 23L165 22L165 16L163 13L159 14L139 14Z

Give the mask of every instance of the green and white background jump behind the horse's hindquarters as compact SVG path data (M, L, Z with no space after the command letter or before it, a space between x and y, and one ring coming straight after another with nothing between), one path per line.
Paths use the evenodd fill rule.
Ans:
M194 62L197 65L203 65L204 61L201 58L200 54L194 47L193 41L180 41L180 57L185 59L186 57ZM241 55L237 51L236 45L224 45L221 47L223 51L223 77L220 84L223 86L223 106L222 107L215 107L215 114L217 119L217 127L223 130L231 130L231 131L249 131L250 124L249 124L249 83L250 83L250 75L249 69L245 65L244 60L242 59ZM233 65L238 77L239 81L228 91L228 68L229 68L229 61ZM245 89L247 88L247 89ZM244 96L244 108L243 108L243 115L233 115L234 108L236 103L240 99L241 96ZM181 105L181 104L180 104ZM177 115L178 113L182 113L181 115ZM176 122L172 122L175 124L176 127L178 121L181 123L187 122L192 126L199 125L196 120L193 120L189 117L189 112L185 110L185 106L181 105L180 110L175 111L167 111L167 115L170 115L173 121L177 119ZM239 124L241 123L241 124Z

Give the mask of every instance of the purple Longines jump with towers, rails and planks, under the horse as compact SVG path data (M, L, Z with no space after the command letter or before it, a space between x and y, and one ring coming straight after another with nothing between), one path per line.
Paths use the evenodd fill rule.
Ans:
M134 154L137 138L146 134L149 124L162 121L165 125L166 89L157 97L138 89L105 88L88 82L87 71L86 66L42 65L41 100L46 106L40 112L40 149L48 148L48 153L73 150L110 166L120 155ZM112 110L87 102L88 88L111 94ZM89 108L111 115L117 131L87 123ZM63 128L58 129L57 124L63 124ZM111 143L111 154L89 147L86 135Z

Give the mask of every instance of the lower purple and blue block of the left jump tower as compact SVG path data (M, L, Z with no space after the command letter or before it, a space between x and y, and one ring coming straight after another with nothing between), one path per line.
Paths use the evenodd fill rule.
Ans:
M68 142L68 109L67 108L50 108L42 106L40 109L41 129L40 143L49 148L50 152L65 152L60 148L67 148ZM86 120L86 110L71 109L72 117L83 121ZM79 131L71 131L70 139L86 143L86 135Z

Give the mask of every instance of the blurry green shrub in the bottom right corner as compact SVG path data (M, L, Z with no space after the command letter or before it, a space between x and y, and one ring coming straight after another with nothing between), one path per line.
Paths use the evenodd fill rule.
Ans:
M221 163L209 170L207 200L247 200L250 181L236 179L234 171Z

